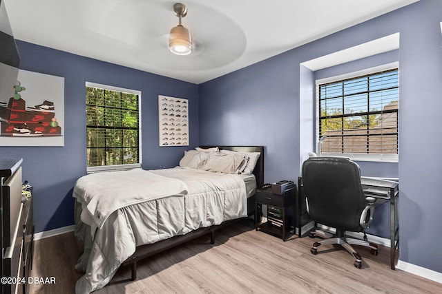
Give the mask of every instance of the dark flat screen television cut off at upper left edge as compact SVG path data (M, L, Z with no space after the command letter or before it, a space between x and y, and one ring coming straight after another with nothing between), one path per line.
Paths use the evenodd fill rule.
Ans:
M19 74L20 57L6 13L5 1L0 0L0 117L3 107L14 96Z

